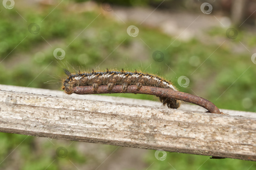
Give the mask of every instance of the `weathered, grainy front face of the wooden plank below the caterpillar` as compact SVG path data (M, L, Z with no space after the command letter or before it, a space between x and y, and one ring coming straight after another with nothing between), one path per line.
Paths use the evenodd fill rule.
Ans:
M1 132L256 161L254 118L4 90L0 96Z

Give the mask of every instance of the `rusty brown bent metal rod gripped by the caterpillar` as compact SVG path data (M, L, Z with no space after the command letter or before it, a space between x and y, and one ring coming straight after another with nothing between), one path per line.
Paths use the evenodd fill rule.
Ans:
M161 96L165 98L178 99L178 100L186 101L189 103L193 103L195 105L199 105L207 109L210 113L224 114L220 112L220 110L216 107L216 105L214 105L209 100L206 100L204 98L201 98L189 93L175 91L168 88L158 88L158 87L151 87L151 86L142 86L142 88L139 91L136 89L137 89L136 85L129 85L126 93L150 94L150 95ZM76 86L73 88L72 92L76 94L123 93L121 85L115 85L111 90L111 92L107 90L107 86L99 86L97 92L93 91L92 86Z

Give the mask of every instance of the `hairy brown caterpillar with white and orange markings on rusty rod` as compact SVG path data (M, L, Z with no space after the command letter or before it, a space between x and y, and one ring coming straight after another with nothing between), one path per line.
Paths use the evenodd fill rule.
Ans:
M142 86L152 86L159 88L170 88L172 90L177 90L172 83L150 74L143 74L140 72L128 72L124 71L109 71L105 72L94 71L91 73L78 71L77 74L71 74L67 69L63 69L64 73L67 75L67 79L63 80L62 89L67 94L72 94L72 89L76 86L92 86L95 93L101 85L107 85L108 91L111 90L115 85L122 85L122 93L126 93L129 85L136 85L139 91ZM163 105L167 105L168 108L177 109L180 106L180 100L172 98L159 97Z

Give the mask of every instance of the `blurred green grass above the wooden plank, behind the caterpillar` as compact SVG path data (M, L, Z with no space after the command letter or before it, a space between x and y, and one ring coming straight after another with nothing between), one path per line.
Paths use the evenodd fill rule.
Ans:
M218 48L219 44L205 45L198 39L181 42L175 40L175 37L168 37L158 30L143 26L139 26L137 37L130 37L126 33L127 25L134 23L126 25L117 23L102 14L97 17L98 13L96 12L68 13L65 12L67 10L65 5L60 6L44 19L48 10L43 13L27 11L24 13L27 22L21 20L18 14L12 10L3 10L2 15L6 16L6 19L0 21L0 24L3 25L0 29L0 33L3 35L0 56L1 59L8 56L1 63L0 79L2 84L59 89L61 86L58 84L58 81L61 80L59 76L65 77L62 67L68 66L71 71L78 70L79 67L86 71L104 70L105 68L124 68L131 71L138 69L163 76L167 80L171 80L181 91L187 93L194 91L213 101L220 108L256 110L256 105L249 108L244 108L242 105L244 98L250 98L253 103L256 101L254 95L256 90L253 88L255 83L253 75L256 71L255 65L250 59L252 54L236 53L232 49L234 44L241 45L239 41L243 41L242 37L246 37L244 39L249 42L249 47L255 41L255 37L246 36L246 32L239 32L241 35L239 41L231 41L225 37L224 29L209 31L209 36L225 40L225 43ZM8 23L10 17L14 22ZM63 17L65 20L59 20L59 17ZM95 17L97 17L96 20L94 20ZM41 22L41 20L43 21ZM88 26L92 20L94 22ZM29 22L39 23L40 32L38 34L34 35L28 32ZM87 26L88 28L83 31ZM79 34L80 36L75 39ZM52 44L52 47L42 37ZM174 40L175 42L169 46ZM121 45L119 46L119 44ZM114 50L117 46L119 48ZM15 50L13 50L14 48ZM64 49L66 55L63 60L54 58L55 48ZM218 49L216 50L216 48ZM156 50L164 53L162 62L156 62L152 58L152 54ZM193 56L196 56L196 62L194 62ZM102 62L106 57L107 59ZM200 65L201 63L203 64ZM101 65L98 67L99 64ZM249 66L251 67L247 70ZM41 71L43 72L41 73ZM242 75L244 71L246 72ZM38 77L34 80L36 76ZM187 76L190 79L188 88L178 85L177 80L180 76ZM239 76L241 77L235 82ZM44 83L50 80L56 83ZM229 88L233 82L235 83ZM226 89L228 90L225 92ZM219 98L221 94L222 96ZM127 94L121 94L121 96L127 96ZM149 97L149 99L152 98Z

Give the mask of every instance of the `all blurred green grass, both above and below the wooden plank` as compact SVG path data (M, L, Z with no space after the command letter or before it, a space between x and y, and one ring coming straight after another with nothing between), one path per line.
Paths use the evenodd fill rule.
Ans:
M0 63L1 84L58 90L61 87L59 81L65 78L62 72L63 67L68 67L70 71L79 68L85 71L105 68L124 68L131 71L137 69L171 80L180 91L192 94L196 92L219 108L256 111L256 105L243 104L243 99L256 102L256 88L254 88L256 65L251 61L253 53L246 51L239 53L234 50L234 46L241 46L239 41L247 42L247 47L252 48L256 42L255 35L239 30L239 37L230 40L225 36L225 29L213 28L207 33L210 37L208 43L202 42L200 38L183 42L157 29L133 22L126 24L117 22L100 14L100 11L70 12L69 4L65 1L52 11L53 8L17 9L27 20L26 22L15 10L2 7L3 11L0 13L0 62L3 60ZM49 14L51 11L52 13ZM30 23L40 26L38 34L31 34L28 31ZM126 33L129 25L138 26L137 37L130 37ZM76 38L77 35L79 36ZM220 43L213 42L213 39L219 40ZM225 43L219 47L224 40ZM66 55L63 60L54 58L53 51L56 48L64 49ZM164 53L162 62L156 62L152 58L156 50ZM178 85L180 76L189 78L188 88ZM156 100L148 95L111 95ZM27 137L7 133L0 133L0 135L1 160ZM69 159L76 164L87 163L87 157L71 146L65 146L70 156L67 159L59 159L54 153L57 147L51 144L41 146L41 154L36 155L33 153L34 139L34 137L28 137L21 147L17 148L21 160L24 161L21 169L45 169L46 165L54 159L56 161L48 169L69 166ZM208 156L170 153L165 161L157 161L154 152L152 151L151 156L145 158L145 163L149 165L155 162L149 169L170 169L169 163L175 169L197 169L208 159ZM49 156L46 153L52 153L52 155ZM5 160L0 167L8 167L8 163L10 163L9 159ZM209 159L200 169L247 169L252 164L255 166L251 161Z

